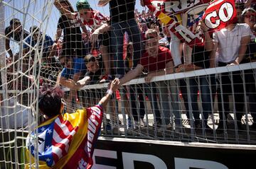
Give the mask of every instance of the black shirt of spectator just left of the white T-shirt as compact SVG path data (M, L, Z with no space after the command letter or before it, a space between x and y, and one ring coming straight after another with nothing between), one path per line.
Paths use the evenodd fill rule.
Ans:
M204 46L193 46L192 63L203 69L210 67L210 52Z

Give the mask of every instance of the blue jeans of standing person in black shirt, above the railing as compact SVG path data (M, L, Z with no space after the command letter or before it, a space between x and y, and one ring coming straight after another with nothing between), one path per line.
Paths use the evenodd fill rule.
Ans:
M142 57L142 35L135 19L120 23L112 23L111 46L112 52L114 53L114 68L117 78L121 78L125 74L123 59L125 32L129 35L129 41L133 42L134 54L132 58L132 67L136 67L139 59Z

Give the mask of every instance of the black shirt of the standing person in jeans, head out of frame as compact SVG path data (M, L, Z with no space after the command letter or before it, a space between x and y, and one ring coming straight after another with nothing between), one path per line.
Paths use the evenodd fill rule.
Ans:
M110 21L118 23L134 19L135 0L110 1Z

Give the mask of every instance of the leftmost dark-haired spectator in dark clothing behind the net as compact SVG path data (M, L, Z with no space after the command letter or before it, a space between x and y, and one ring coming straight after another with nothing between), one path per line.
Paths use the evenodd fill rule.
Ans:
M10 25L5 29L5 44L6 44L6 51L9 54L9 57L13 57L14 54L10 47L10 39L13 39L16 42L20 42L21 40L25 39L28 36L28 30L23 29L21 25L21 21L18 18L13 18L10 21Z

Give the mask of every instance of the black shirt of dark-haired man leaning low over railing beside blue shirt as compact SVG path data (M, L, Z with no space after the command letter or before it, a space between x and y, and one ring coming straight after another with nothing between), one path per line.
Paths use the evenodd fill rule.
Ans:
M96 57L97 62L99 63L99 69L93 73L92 71L87 71L85 76L90 76L90 82L89 84L96 84L101 80L101 76L103 75L104 66L102 64L102 57L98 56Z

